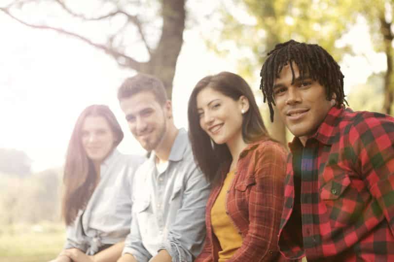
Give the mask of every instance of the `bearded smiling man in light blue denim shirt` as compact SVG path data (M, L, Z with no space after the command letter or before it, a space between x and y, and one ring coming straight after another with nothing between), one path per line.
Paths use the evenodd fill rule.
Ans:
M130 131L151 151L134 177L131 229L118 262L192 262L205 238L210 186L187 132L175 127L171 101L156 77L126 79L118 99Z

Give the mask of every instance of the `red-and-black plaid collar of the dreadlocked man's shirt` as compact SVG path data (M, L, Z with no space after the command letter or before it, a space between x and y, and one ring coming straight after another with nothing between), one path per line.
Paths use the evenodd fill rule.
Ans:
M341 119L339 116L342 115L344 110L345 109L343 107L331 107L318 130L308 139L315 138L324 145L332 145L338 138L338 128ZM300 139L298 137L294 137L293 141L288 143L288 147L291 151L294 151L300 147L300 144Z

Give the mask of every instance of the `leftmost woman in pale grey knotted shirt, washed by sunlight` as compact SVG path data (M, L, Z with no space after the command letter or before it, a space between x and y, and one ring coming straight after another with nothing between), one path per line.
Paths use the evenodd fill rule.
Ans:
M64 167L64 250L52 262L112 262L131 223L131 182L143 157L115 148L123 131L105 105L87 107L75 124Z

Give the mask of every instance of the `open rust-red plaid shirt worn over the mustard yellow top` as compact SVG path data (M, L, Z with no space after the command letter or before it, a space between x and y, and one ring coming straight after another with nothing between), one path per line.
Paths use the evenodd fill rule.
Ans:
M234 180L227 191L226 209L239 234L242 246L228 262L273 261L280 257L278 232L283 210L287 152L276 142L261 140L240 154ZM221 182L208 198L205 222L207 236L195 262L216 262L219 242L212 230L211 209L229 171L221 169Z

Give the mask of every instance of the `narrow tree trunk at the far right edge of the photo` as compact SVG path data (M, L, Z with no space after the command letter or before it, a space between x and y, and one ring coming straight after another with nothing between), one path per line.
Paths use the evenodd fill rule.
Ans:
M388 23L384 17L384 14L380 19L380 32L384 38L384 50L386 53L387 71L384 76L384 102L383 112L385 114L392 114L392 105L394 101L394 88L393 88L393 33L391 31L391 22Z

